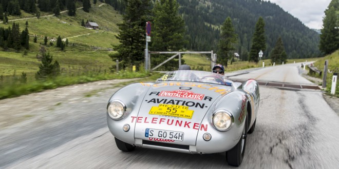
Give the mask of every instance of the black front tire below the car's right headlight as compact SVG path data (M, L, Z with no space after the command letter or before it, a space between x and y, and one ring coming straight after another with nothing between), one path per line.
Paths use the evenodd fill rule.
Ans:
M242 131L242 135L239 142L231 150L226 152L226 158L229 165L239 166L241 164L243 156L245 154L247 129L248 129L248 119L246 117L245 127L244 130Z

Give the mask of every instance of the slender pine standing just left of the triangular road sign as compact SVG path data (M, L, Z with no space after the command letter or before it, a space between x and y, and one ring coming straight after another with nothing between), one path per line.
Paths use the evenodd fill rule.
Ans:
M255 31L252 38L252 47L250 51L249 61L258 62L258 53L266 50L266 37L265 37L265 22L263 18L259 17L255 25Z

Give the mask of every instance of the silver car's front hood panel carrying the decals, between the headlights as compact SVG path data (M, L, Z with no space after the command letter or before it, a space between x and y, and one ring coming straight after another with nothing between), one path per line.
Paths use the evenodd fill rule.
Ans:
M183 132L176 144L195 145L199 131L207 132L210 123L202 124L206 113L213 111L216 100L229 93L231 87L199 82L161 82L150 85L137 117L135 138L174 142L147 137L147 129ZM212 109L211 109L212 108Z

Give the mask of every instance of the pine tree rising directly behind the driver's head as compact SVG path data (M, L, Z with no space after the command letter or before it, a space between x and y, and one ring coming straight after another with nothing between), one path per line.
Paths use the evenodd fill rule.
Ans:
M230 52L235 50L234 44L237 43L238 34L234 32L231 17L227 17L221 27L219 39L218 62L225 67L228 65ZM232 56L232 55L231 55Z

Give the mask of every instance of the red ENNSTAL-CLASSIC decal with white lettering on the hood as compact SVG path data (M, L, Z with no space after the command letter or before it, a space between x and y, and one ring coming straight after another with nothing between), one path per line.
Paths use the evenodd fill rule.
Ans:
M204 94L196 94L192 91L176 90L176 91L161 91L159 96L202 100Z

